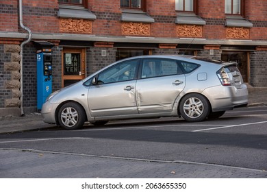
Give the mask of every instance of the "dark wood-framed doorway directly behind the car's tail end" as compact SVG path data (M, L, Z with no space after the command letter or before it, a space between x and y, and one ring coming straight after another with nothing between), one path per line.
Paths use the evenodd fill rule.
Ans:
M223 51L223 61L237 62L244 82L249 82L249 53L247 51Z

